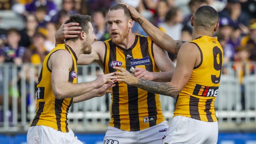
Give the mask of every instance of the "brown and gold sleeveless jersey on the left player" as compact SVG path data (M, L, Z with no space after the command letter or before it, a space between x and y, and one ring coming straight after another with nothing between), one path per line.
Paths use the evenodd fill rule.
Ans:
M47 63L52 54L58 50L67 50L72 55L72 67L69 70L69 82L77 83L77 57L72 48L65 44L58 44L43 61L41 73L37 83L37 111L31 126L48 126L58 131L69 132L67 113L72 104L72 98L56 99L51 84L52 71Z

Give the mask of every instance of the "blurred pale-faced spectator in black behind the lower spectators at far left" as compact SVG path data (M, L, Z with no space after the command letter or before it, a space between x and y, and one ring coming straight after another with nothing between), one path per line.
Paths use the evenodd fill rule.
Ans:
M35 18L35 15L33 14L26 15L25 20L26 20L26 28L20 31L21 39L20 39L19 45L28 48L32 43L32 37L37 30L38 23Z

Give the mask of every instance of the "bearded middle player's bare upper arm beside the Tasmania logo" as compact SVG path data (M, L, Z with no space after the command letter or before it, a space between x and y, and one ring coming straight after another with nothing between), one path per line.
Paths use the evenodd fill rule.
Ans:
M157 44L153 44L154 60L161 72L174 70L175 66L169 58L167 52Z

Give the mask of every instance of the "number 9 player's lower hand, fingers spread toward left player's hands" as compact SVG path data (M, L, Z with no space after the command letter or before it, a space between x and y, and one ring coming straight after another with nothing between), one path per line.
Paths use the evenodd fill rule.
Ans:
M117 81L123 81L127 85L136 85L138 83L139 78L133 76L130 72L128 72L124 68L120 68L117 66L113 66L113 68L120 71L120 72L115 72L115 74L117 75Z

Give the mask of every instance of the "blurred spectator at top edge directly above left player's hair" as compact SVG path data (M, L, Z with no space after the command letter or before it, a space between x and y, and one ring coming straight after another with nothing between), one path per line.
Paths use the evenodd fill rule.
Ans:
M74 6L75 6L74 0L63 0L61 4L61 8L62 8L61 10L66 11L69 15L74 15L78 13L76 10L74 10ZM59 12L52 17L51 21L54 23L58 22L58 16L59 16Z

